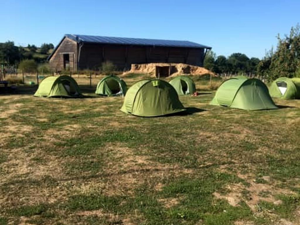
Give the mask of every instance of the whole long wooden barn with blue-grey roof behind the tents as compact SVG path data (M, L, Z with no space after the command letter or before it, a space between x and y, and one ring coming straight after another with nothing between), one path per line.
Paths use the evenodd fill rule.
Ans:
M66 34L48 57L54 71L98 70L110 61L119 70L131 64L185 63L203 66L206 51L211 47L190 41L143 38L116 38Z

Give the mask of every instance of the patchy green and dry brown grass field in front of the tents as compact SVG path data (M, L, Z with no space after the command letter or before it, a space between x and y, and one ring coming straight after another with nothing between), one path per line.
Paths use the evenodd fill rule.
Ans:
M300 100L243 111L199 90L141 118L83 88L0 96L1 225L300 224Z

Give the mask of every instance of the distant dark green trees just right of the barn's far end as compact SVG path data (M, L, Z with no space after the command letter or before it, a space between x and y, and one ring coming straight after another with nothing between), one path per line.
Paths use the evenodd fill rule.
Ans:
M256 73L259 58L248 58L242 53L232 53L228 58L224 55L216 56L216 53L209 51L204 59L204 67L215 73Z

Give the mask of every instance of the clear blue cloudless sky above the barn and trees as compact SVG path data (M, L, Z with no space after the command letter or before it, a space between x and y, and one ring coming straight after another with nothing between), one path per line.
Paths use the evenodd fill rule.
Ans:
M0 42L57 45L64 34L188 40L262 58L300 22L299 0L0 0Z

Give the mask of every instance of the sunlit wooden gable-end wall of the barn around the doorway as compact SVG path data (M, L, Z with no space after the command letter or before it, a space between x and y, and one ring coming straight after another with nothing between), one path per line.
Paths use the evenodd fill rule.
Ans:
M71 52L69 54L70 70L77 70L77 43L69 38L64 38L61 44L56 49L55 53L49 60L50 68L52 70L64 70L63 53Z

